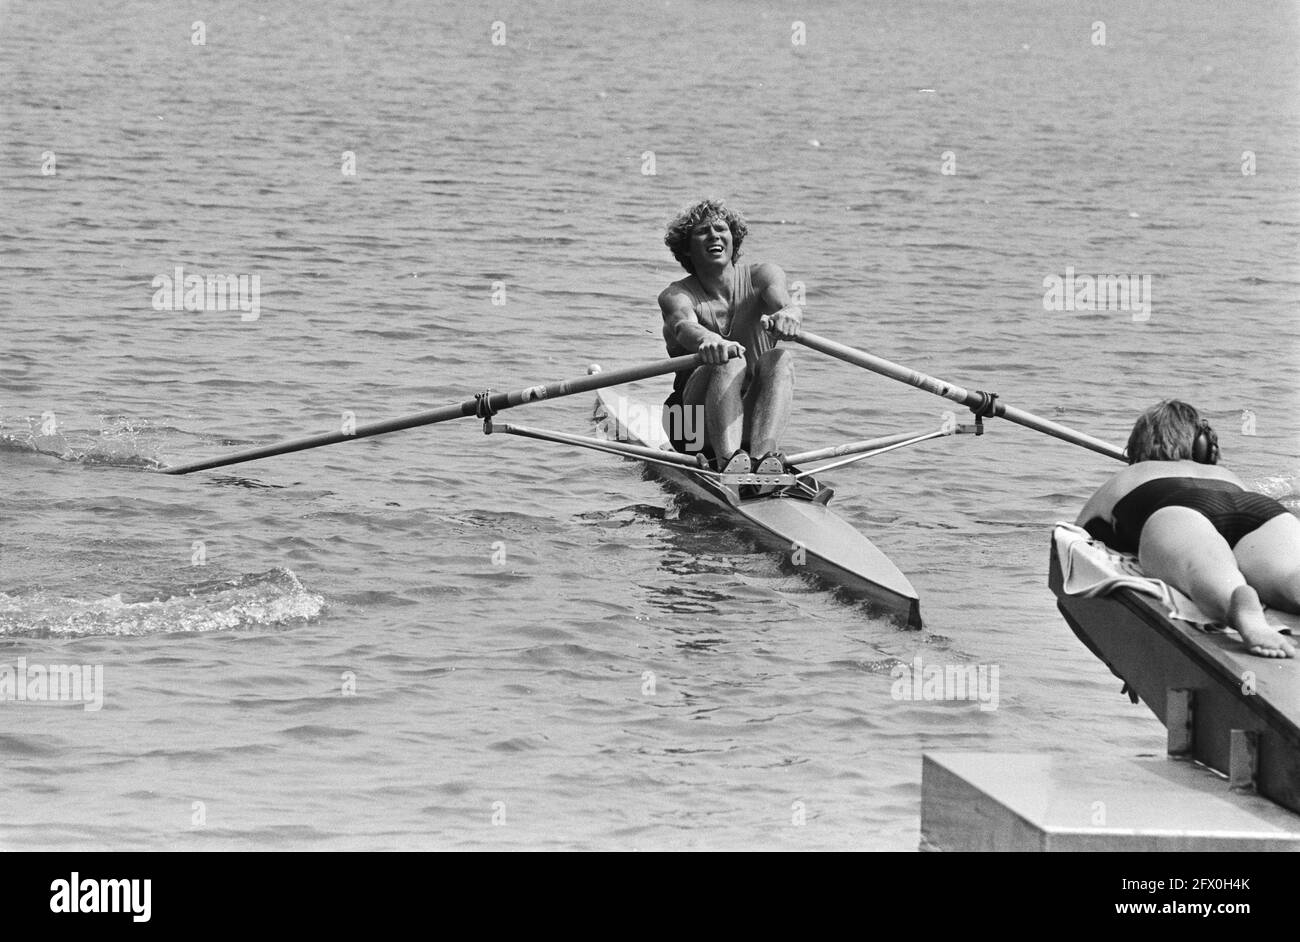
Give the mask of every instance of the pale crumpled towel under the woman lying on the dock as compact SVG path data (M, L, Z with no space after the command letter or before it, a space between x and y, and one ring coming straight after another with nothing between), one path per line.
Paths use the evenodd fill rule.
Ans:
M1205 615L1195 602L1167 582L1147 576L1138 565L1136 556L1112 550L1089 537L1087 530L1058 522L1052 537L1065 576L1066 595L1092 598L1117 589L1132 589L1158 599L1170 618L1191 622L1205 631L1222 631L1227 628ZM1290 612L1265 608L1264 618L1283 634L1295 634L1300 629L1300 616Z

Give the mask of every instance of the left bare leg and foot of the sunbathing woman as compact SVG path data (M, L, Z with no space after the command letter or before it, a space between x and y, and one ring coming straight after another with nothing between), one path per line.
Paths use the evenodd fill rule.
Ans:
M1148 576L1186 592L1212 618L1235 629L1251 654L1295 656L1291 642L1264 620L1260 596L1205 515L1190 507L1156 511L1143 526L1138 561Z

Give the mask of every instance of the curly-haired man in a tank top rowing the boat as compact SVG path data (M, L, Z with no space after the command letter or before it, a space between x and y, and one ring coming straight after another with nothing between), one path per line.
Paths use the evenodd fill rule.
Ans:
M779 266L736 262L748 234L745 220L719 200L697 203L668 223L664 244L686 277L659 295L663 338L670 356L699 353L705 364L677 374L664 429L677 451L702 450L716 470L781 473L794 356L775 344L798 334L803 312L790 304ZM702 446L686 437L701 413Z

